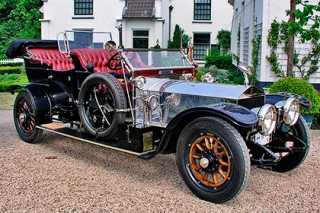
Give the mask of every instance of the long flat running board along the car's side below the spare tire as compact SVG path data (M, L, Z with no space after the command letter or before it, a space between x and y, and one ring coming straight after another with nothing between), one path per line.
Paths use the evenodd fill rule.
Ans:
M76 139L82 142L86 142L86 143L90 143L93 145L97 145L97 146L101 146L107 149L112 149L112 150L116 150L116 151L120 151L120 152L124 152L127 154L131 154L131 155L136 155L136 156L143 156L143 155L147 155L150 154L152 152L154 152L155 150L150 150L150 151L146 151L146 152L134 152L134 151L130 151L127 149L122 149L116 146L116 141L101 141L99 139L93 138L91 135L85 134L85 133L81 133L75 129L71 129L68 128L62 124L58 124L58 123L49 123L49 124L42 124L40 126L37 126L38 129L42 129L48 132L52 132L58 135L62 135L65 137L69 137L72 139Z

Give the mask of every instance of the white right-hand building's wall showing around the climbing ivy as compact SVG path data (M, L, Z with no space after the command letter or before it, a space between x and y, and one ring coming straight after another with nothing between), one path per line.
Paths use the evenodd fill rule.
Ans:
M267 43L268 33L274 19L287 21L286 10L290 8L290 1L286 0L228 0L233 6L233 22L231 29L231 52L240 59L240 64L252 66L252 44L255 35L261 35L261 46L258 54L257 80L259 87L275 82L278 77L271 71L271 65L266 56L270 54ZM319 0L310 0L317 4ZM295 48L300 55L309 51L310 44L300 44L296 39ZM277 49L279 63L282 70L287 68L287 55L283 48ZM235 63L235 62L234 62ZM296 77L300 76L297 67L294 68ZM320 86L320 71L311 75L309 82ZM318 85L317 85L318 84Z

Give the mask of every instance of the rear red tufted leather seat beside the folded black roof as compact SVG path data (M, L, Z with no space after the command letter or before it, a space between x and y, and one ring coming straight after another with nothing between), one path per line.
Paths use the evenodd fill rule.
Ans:
M57 49L29 49L34 58L30 60L32 63L46 64L53 70L71 70L74 69L71 58L60 53Z

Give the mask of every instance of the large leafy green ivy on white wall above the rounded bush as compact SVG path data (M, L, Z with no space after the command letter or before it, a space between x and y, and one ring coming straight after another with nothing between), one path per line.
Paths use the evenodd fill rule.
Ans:
M310 76L319 70L320 60L320 2L310 4L308 1L296 0L301 7L294 12L296 21L281 23L274 20L268 34L268 45L271 47L270 55L266 56L271 65L271 70L278 77L284 77L285 71L281 70L277 54L281 44L283 51L288 54L289 36L295 35L299 42L310 42L311 48L305 55L299 55L294 51L293 65L298 68L301 77L308 80ZM290 11L286 11L287 15Z

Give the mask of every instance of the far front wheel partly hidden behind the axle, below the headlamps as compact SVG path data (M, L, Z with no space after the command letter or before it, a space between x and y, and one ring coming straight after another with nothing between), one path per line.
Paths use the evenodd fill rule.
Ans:
M288 134L290 134L288 137ZM291 147L291 148L302 148L304 147L299 142L294 142L294 137L305 143L305 148L301 152L278 152L276 153L280 157L280 161L276 166L272 167L273 171L276 172L289 172L297 168L307 157L310 149L310 133L309 128L302 116L299 116L297 123L291 127L282 123L282 125L277 126L276 130L277 141L269 145L271 150L272 146L277 147ZM294 136L294 137L291 137Z

